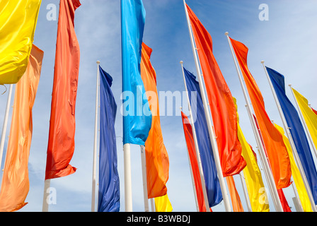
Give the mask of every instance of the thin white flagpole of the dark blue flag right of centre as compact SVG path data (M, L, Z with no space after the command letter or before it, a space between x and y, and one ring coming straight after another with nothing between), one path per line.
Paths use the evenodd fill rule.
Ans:
M198 162L198 168L200 170L200 181L202 182L202 193L204 194L204 205L206 206L206 211L210 212L209 201L208 201L207 190L206 190L206 184L205 184L206 182L204 181L204 171L202 170L202 160L200 158L200 149L199 149L198 142L197 142L197 135L196 135L194 119L192 119L192 107L190 106L190 98L188 96L188 88L187 88L187 84L186 84L186 80L185 80L183 61L180 61L180 64L182 66L184 85L185 85L186 96L187 96L187 101L188 101L188 109L190 111L190 124L192 125L192 136L194 138L195 150L196 150L196 156L197 156L197 162ZM196 196L196 198L197 198L197 196Z

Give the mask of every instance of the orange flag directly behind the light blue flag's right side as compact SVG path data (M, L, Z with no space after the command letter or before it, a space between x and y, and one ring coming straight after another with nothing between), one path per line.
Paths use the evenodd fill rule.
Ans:
M146 182L148 198L166 195L169 160L163 143L159 116L159 97L156 89L156 72L151 65L152 49L142 43L141 78L152 113L152 124L145 142Z

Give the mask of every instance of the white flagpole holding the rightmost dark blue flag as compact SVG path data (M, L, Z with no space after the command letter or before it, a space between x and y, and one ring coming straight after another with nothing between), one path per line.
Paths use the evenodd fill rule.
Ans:
M306 175L304 173L304 169L303 169L303 166L301 165L301 161L299 160L299 155L297 153L297 150L296 150L296 146L294 144L294 140L293 140L293 137L292 137L292 133L289 131L290 127L287 125L287 121L285 119L285 116L284 116L284 113L282 111L282 107L281 105L279 105L279 100L277 99L277 95L275 93L275 89L272 85L272 81L270 80L270 76L269 74L267 73L267 69L265 68L265 65L264 65L264 61L261 61L261 63L263 64L263 69L265 71L265 75L267 76L267 81L269 82L270 84L270 88L272 90L272 94L273 94L273 97L274 97L274 100L275 100L275 103L277 105L277 109L279 110L279 116L281 117L282 119L282 123L283 123L283 126L284 126L284 129L286 131L286 134L287 134L287 138L289 139L289 143L292 147L292 150L293 150L293 155L294 155L294 160L296 162L296 165L298 166L299 168L299 172L301 174L301 178L303 179L303 182L304 182L304 185L305 185L305 188L306 188L306 191L307 191L307 194L309 196L309 200L311 201L311 208L313 210L313 212L316 212L317 209L316 209L316 206L315 206L315 202L313 201L313 195L311 194L311 189L309 187L309 184L307 182L307 179L306 179ZM295 193L296 195L296 193ZM301 203L299 202L299 204L301 205ZM302 208L302 207L301 207Z

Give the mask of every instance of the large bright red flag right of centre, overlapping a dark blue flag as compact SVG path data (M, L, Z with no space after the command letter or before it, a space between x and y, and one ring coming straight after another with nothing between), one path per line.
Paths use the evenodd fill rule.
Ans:
M241 156L234 101L212 53L212 37L189 6L187 9L217 136L222 173L224 177L238 174L246 167L246 161Z

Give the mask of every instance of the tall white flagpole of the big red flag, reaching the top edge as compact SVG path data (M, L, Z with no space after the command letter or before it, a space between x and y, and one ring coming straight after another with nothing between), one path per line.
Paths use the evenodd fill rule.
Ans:
M190 25L190 18L188 16L188 11L187 11L187 8L186 8L185 0L183 0L183 2L184 2L186 19L187 19L187 23L188 23L188 30L189 30L189 34L190 34L190 42L192 44L192 53L193 53L194 59L195 59L195 66L196 66L196 70L197 70L197 78L198 78L198 81L200 83L200 91L202 93L202 102L204 104L204 114L206 115L209 136L210 136L210 140L212 142L212 150L213 150L213 153L214 153L214 162L215 162L216 167L217 167L217 175L218 175L218 178L219 178L219 184L220 184L220 188L221 188L222 198L223 198L223 201L224 201L224 207L226 209L226 212L231 212L229 196L228 196L228 193L226 191L226 184L224 182L224 175L222 174L222 169L221 169L221 164L220 164L220 157L219 157L219 150L218 150L218 146L217 146L216 136L214 135L214 129L213 129L213 126L212 126L212 118L211 118L211 116L209 114L209 109L208 109L209 104L207 102L207 97L206 97L206 95L204 93L205 92L204 84L202 83L202 74L200 73L200 64L199 64L198 57L197 57L197 54L196 54L195 41L194 41L194 37L192 37L192 29L191 29L191 25Z

